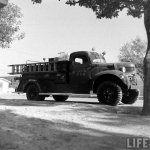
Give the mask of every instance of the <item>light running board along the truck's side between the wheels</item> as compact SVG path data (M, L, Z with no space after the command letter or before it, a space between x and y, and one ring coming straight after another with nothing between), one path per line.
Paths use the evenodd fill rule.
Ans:
M81 96L81 97L96 97L96 94L73 94L73 93L39 93L39 95L64 95L64 96Z

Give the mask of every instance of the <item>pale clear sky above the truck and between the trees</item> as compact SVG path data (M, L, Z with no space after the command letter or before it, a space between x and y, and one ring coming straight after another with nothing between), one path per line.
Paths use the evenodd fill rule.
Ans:
M8 75L8 65L48 60L62 51L94 48L106 52L107 62L117 62L119 49L126 42L136 37L147 40L143 18L135 19L124 12L115 19L97 19L92 10L66 5L65 0L43 0L34 5L31 0L10 2L21 8L25 38L0 50L0 76Z

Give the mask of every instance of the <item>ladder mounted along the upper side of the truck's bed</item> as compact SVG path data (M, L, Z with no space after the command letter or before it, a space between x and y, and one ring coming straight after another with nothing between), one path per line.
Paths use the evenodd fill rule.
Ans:
M11 75L14 74L30 74L30 73L46 73L56 72L56 62L53 58L49 59L49 62L29 63L29 64L15 64L9 65L12 67Z

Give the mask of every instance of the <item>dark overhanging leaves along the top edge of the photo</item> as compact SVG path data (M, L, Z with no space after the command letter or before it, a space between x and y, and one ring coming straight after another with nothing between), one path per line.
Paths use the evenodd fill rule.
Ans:
M32 2L41 3L42 0ZM90 8L99 19L117 17L123 9L127 10L127 15L133 17L141 17L144 12L144 0L66 0L66 4Z

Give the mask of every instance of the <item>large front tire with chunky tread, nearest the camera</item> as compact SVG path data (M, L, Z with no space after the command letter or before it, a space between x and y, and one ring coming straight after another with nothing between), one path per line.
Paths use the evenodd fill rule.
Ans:
M105 81L98 87L97 98L102 104L116 106L122 100L122 89L112 81Z

